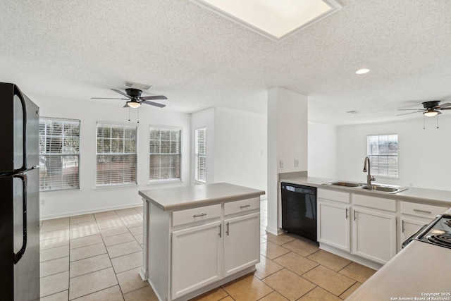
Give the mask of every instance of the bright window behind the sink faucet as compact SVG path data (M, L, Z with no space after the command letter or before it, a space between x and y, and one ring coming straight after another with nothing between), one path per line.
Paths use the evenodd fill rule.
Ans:
M397 135L372 135L367 142L371 174L397 177Z

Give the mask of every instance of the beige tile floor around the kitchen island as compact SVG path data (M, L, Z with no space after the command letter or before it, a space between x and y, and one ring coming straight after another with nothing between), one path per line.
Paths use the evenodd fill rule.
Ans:
M375 271L295 235L266 233L257 271L195 300L343 300ZM138 275L142 207L42 222L41 300L156 300Z

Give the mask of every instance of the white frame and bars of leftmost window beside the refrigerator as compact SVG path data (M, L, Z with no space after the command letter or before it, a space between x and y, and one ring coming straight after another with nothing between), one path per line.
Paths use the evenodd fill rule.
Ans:
M42 142L42 135L41 135L41 122L50 122L50 121L55 121L55 122L60 122L64 125L69 125L70 123L75 124L78 123L78 136L71 136L71 137L78 137L78 152L70 152L70 153L65 153L63 152L64 150L64 138L68 137L63 135L63 131L61 131L61 145L62 145L62 150L61 153L53 153L53 152L46 152L42 153L41 152L41 142ZM45 145L47 145L47 125L46 125L46 130L45 130L45 135L44 135L44 143ZM39 192L52 192L52 191L61 191L61 190L80 190L80 161L81 161L81 154L80 154L80 137L81 137L81 121L80 119L71 119L71 118L53 118L53 117L45 117L45 116L40 116L39 117ZM44 146L44 148L47 148ZM56 188L56 189L42 189L42 180L44 180L46 177L42 177L41 173L44 171L44 169L42 168L41 165L41 159L42 156L60 156L61 157L61 174L63 174L63 157L64 156L77 156L78 160L76 161L76 166L77 166L77 185L75 185L73 188ZM45 160L47 161L47 159ZM44 163L45 165L45 163ZM47 171L47 167L46 167L46 171ZM63 180L61 180L61 182L63 182Z

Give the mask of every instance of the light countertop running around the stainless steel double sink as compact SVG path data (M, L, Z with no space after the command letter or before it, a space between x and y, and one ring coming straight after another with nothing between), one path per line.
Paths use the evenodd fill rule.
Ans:
M451 207L451 191L447 190L408 187L407 190L392 194L387 192L347 188L343 186L323 185L323 183L329 183L336 180L337 179L300 177L300 178L288 178L281 181L292 184L314 186L316 188L352 192L360 195L371 195L373 197L385 197L387 199L400 199L409 202L419 202L423 204L433 204L438 206Z

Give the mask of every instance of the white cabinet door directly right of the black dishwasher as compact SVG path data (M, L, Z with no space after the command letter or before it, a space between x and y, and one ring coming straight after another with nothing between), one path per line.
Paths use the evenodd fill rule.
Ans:
M351 252L350 207L318 202L318 241Z

